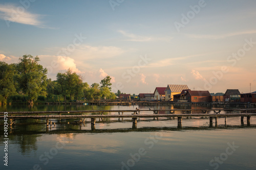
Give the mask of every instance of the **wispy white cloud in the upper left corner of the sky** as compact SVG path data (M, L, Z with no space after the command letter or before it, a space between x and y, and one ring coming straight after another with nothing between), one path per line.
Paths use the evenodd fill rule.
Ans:
M42 15L27 12L23 6L1 5L0 18L6 20L7 26L9 22L23 23L36 27L44 27L39 17Z

